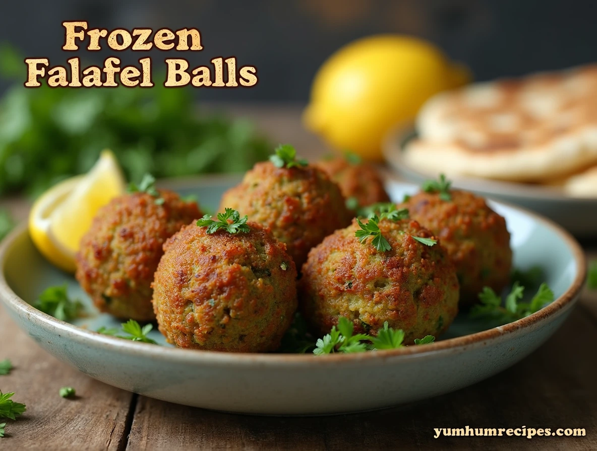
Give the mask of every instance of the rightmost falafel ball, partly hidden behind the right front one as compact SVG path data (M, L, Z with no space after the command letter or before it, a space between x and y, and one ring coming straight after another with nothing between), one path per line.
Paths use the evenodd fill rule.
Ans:
M460 306L478 302L483 287L496 293L510 282L512 249L506 220L467 191L419 192L401 207L437 235L450 254L460 281Z

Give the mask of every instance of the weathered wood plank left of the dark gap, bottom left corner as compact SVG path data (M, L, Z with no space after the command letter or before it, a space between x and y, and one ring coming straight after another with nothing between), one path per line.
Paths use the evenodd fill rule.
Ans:
M0 449L123 449L133 394L87 377L44 352L2 306L0 343L0 360L8 358L15 366L0 376L0 390L14 391L14 400L27 405L17 421L6 421ZM59 396L60 387L67 385L76 389L76 399Z

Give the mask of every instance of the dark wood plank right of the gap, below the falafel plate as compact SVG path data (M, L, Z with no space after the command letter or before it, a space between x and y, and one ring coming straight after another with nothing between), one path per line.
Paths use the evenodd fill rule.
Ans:
M416 405L356 415L231 415L140 397L127 449L597 449L597 360L587 355L596 340L595 322L577 307L541 349L487 381ZM586 428L587 436L433 438L433 428L466 425Z

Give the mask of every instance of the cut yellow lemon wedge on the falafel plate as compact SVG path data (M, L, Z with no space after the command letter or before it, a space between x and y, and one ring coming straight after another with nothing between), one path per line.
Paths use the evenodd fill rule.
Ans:
M90 172L54 185L35 201L29 234L51 263L75 271L75 253L97 210L125 191L114 154L104 150Z

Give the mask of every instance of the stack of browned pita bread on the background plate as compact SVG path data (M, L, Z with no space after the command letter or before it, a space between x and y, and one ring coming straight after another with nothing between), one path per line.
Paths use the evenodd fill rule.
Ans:
M416 126L404 158L420 172L597 197L597 64L436 95Z

